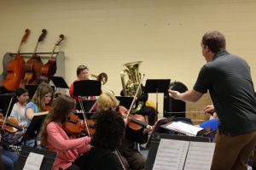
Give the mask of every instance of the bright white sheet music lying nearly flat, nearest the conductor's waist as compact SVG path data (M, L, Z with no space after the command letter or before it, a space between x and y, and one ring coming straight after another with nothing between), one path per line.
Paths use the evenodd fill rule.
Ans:
M203 129L202 127L195 127L184 122L172 122L166 127L176 132L185 133L189 136L196 136L196 134Z

